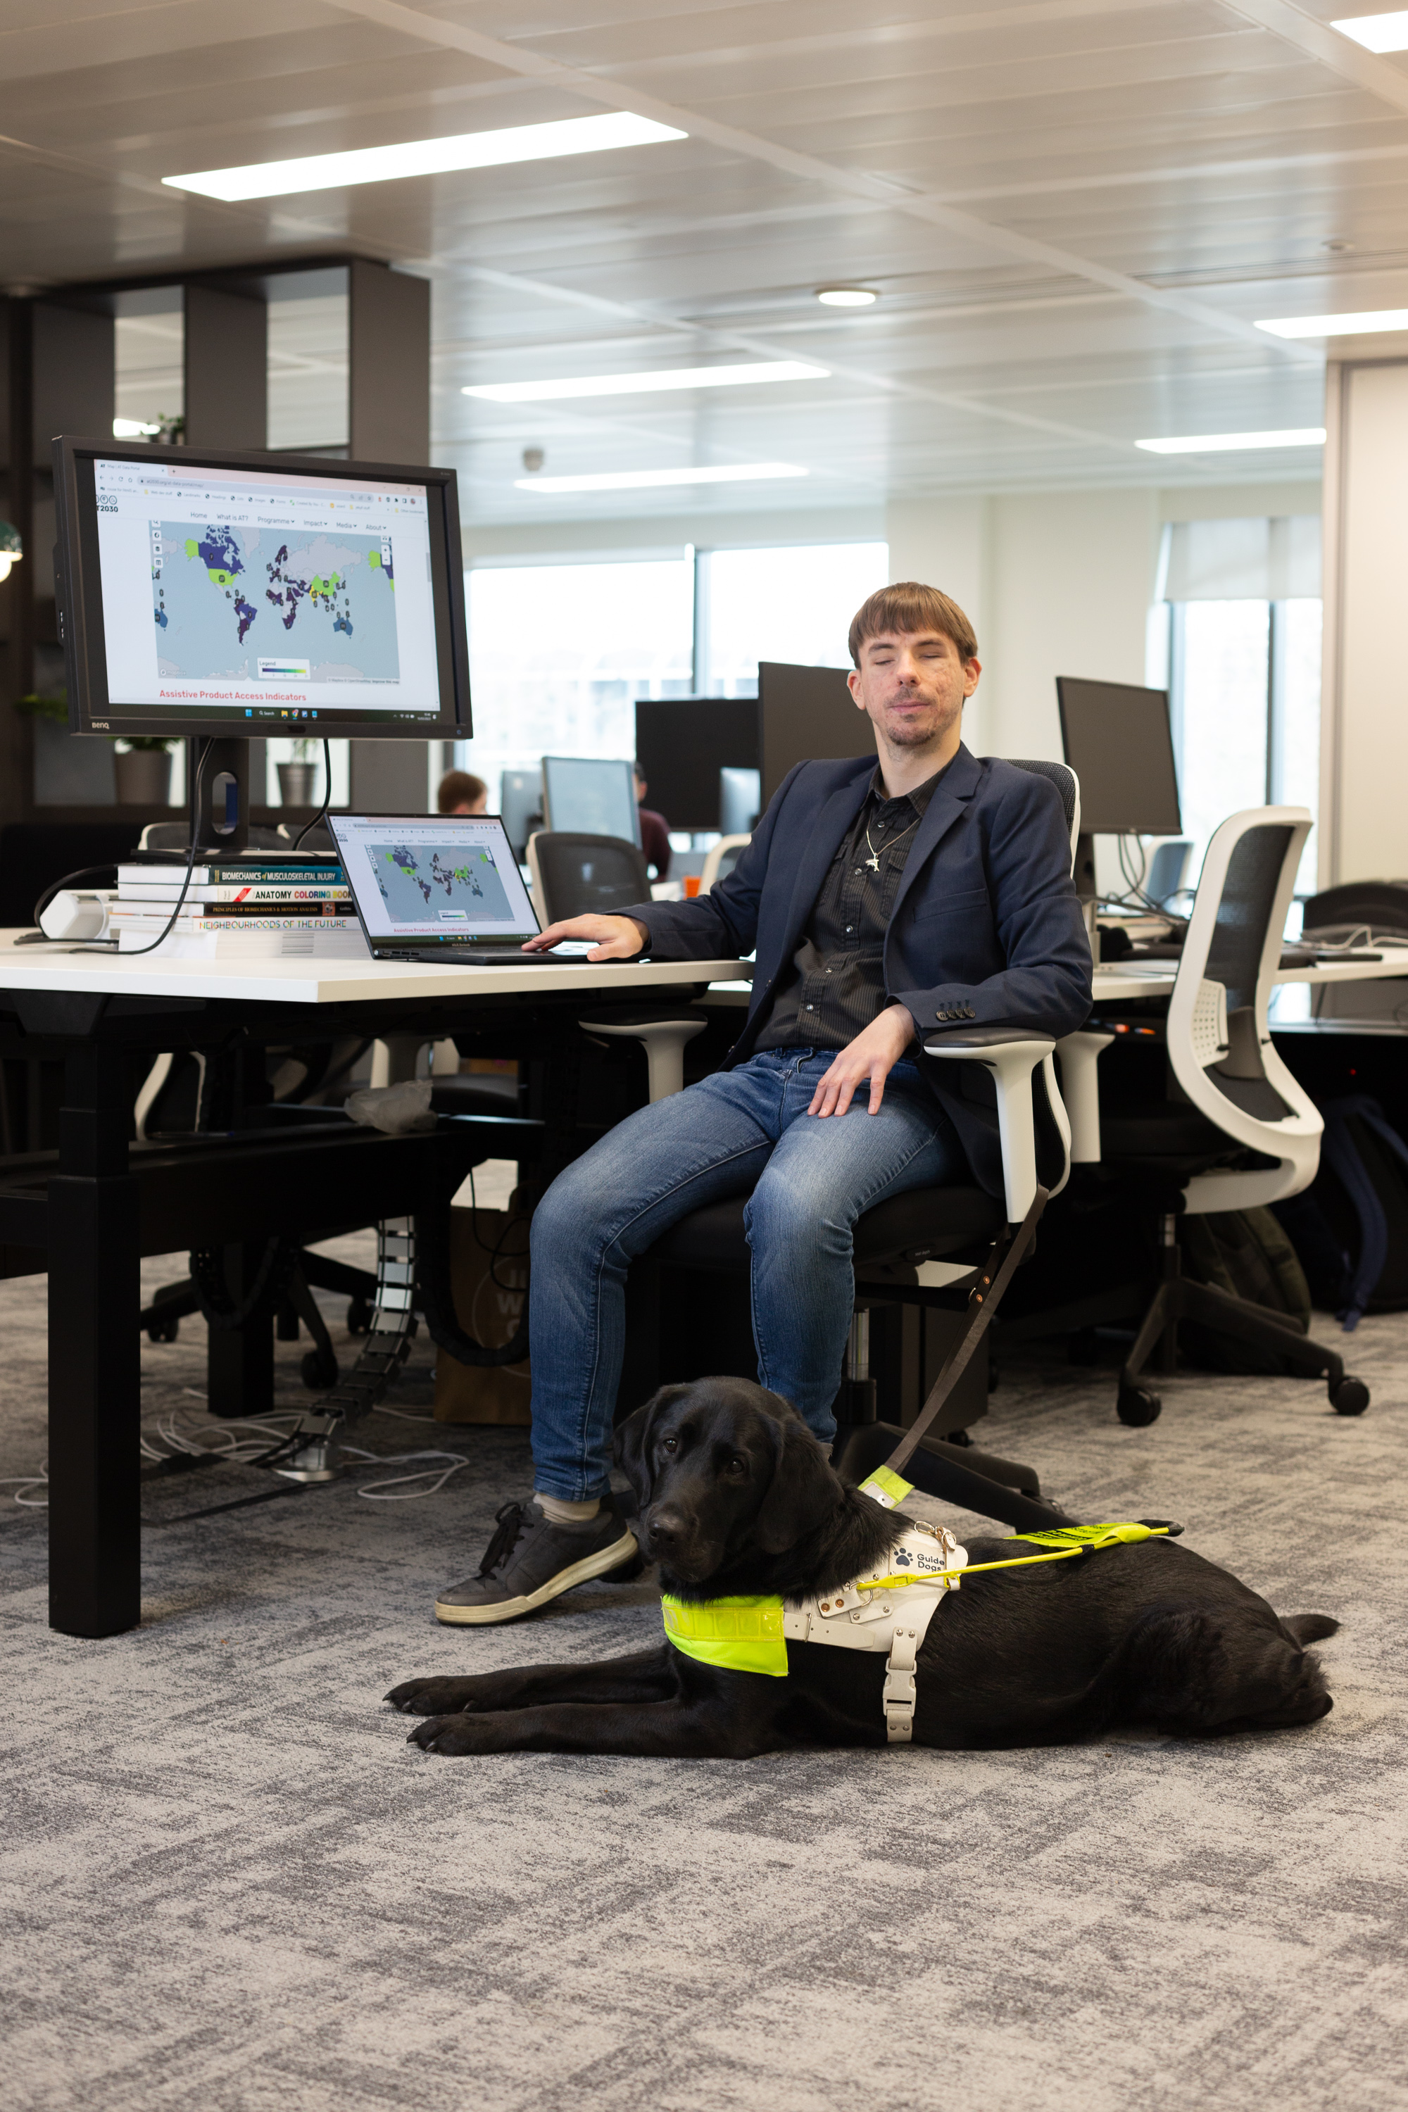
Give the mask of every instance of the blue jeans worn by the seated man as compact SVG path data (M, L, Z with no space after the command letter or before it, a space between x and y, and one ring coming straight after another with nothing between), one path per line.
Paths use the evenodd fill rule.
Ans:
M673 1223L724 1195L751 1200L758 1377L823 1445L851 1328L851 1229L912 1187L967 1176L958 1136L912 1062L844 1115L808 1115L832 1050L764 1050L737 1071L642 1107L562 1172L532 1221L532 1457L536 1487L604 1495L625 1354L625 1278ZM971 1176L969 1176L971 1178Z

